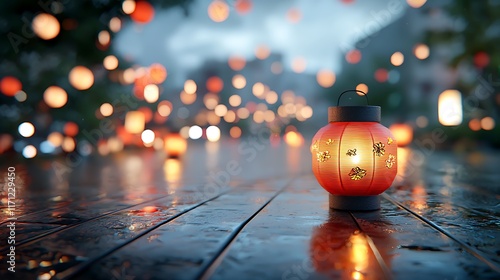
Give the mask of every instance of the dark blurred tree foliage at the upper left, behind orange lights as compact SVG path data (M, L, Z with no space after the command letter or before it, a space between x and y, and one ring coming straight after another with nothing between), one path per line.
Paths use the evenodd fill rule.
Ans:
M155 8L180 6L185 13L192 0L150 1ZM28 95L25 102L0 94L0 112L3 121L0 131L17 131L22 121L40 123L35 118L48 116L48 122L73 121L81 129L92 129L98 125L95 111L103 102L119 99L128 93L120 84L112 83L103 69L103 59L111 54L114 33L109 30L109 21L118 17L124 22L130 16L122 11L123 1L117 0L18 0L0 2L0 78L17 77ZM31 22L39 13L49 13L61 24L61 31L51 40L38 38ZM108 30L111 43L99 45L100 31ZM126 60L120 58L120 68L127 67ZM68 81L68 73L83 65L94 74L94 85L85 91L74 89ZM57 85L68 93L68 104L59 109L49 109L43 102L43 92L49 86ZM81 95L90 98L81 98ZM7 106L7 107L6 107ZM15 112L15 113L12 113ZM35 112L37 114L35 114ZM45 118L46 119L46 118ZM37 126L37 129L42 128Z

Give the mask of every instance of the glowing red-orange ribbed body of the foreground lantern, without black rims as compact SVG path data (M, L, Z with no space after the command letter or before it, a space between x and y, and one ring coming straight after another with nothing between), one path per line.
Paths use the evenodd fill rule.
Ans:
M330 122L314 136L312 169L333 195L384 192L397 173L397 143L378 122Z

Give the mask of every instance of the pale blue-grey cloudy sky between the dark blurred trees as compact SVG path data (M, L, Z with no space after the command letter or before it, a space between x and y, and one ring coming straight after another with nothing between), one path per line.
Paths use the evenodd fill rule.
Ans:
M180 8L157 10L149 24L128 23L115 39L115 50L140 65L154 62L166 66L175 84L182 84L188 71L206 59L227 61L231 55L251 60L259 45L283 54L284 67L302 57L306 72L340 70L345 46L399 18L403 0L253 0L249 13L240 15L227 0L229 18L213 22L207 14L211 0L195 0L185 16ZM347 1L346 1L347 2ZM398 13L389 7L399 7ZM301 20L291 23L287 12L298 9Z

